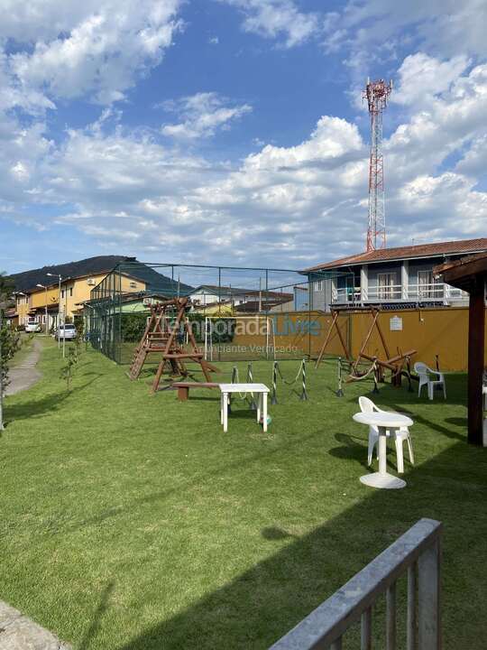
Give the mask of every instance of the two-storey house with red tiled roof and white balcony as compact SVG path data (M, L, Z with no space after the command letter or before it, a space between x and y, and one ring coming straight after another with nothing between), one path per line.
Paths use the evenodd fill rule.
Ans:
M381 248L306 269L313 309L465 305L468 294L436 277L436 265L487 252L487 238Z

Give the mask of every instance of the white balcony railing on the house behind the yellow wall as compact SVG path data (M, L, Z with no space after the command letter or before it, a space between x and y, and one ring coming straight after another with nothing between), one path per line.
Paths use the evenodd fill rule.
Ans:
M455 289L446 283L389 284L336 289L332 292L332 302L425 302L466 300L468 293Z

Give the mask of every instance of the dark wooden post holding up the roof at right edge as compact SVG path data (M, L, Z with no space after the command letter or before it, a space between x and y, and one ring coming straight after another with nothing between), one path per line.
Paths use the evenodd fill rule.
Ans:
M475 278L468 306L468 441L483 441L483 355L485 332L485 280Z

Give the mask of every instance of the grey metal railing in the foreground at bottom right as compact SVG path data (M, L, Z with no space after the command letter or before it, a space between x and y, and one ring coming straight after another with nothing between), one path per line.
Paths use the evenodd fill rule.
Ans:
M341 650L345 632L361 622L361 650L372 649L372 608L386 599L386 649L396 650L396 583L407 575L408 650L441 650L442 525L420 519L352 580L319 605L270 650Z

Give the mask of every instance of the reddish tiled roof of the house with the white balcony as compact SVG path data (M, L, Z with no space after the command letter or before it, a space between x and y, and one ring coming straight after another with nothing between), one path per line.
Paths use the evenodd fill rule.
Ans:
M333 269L339 266L368 264L369 262L388 262L391 260L410 259L411 257L433 257L435 255L458 255L462 253L481 253L487 251L487 237L478 239L460 239L459 241L437 242L436 244L419 244L418 246L397 246L381 248L369 253L349 255L332 262L311 266L306 271Z

